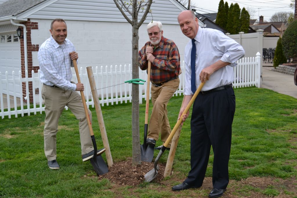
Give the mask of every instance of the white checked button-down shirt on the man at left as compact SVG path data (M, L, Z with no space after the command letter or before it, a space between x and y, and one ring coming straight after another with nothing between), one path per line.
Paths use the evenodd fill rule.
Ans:
M69 53L72 51L75 48L68 39L59 45L51 36L42 43L38 51L41 83L75 91L76 84L70 82L73 65Z

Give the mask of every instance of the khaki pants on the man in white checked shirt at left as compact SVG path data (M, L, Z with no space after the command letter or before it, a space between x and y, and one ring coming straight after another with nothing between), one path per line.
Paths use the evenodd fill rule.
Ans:
M58 132L58 121L65 106L68 106L76 119L79 120L82 155L94 150L85 110L78 92L43 85L42 99L45 104L44 153L48 161L55 160L57 157L56 134ZM92 120L91 111L89 109L88 111L90 120ZM70 136L70 138L73 137ZM72 146L69 145L69 147Z

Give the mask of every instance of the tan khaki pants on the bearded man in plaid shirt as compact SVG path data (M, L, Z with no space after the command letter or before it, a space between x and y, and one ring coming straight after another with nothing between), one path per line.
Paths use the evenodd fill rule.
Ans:
M167 104L178 88L178 85L179 78L168 81L167 83L162 84L161 87L156 87L154 85L151 86L151 101L153 103L153 110L149 120L148 138L153 138L157 141L159 139L159 133L161 132L161 140L164 144L171 133L167 117ZM168 144L168 148L170 148L170 146L171 141Z

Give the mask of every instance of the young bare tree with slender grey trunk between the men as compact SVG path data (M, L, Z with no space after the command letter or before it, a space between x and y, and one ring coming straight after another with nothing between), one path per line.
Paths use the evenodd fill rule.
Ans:
M132 78L139 78L138 73L138 29L146 19L150 11L153 0L113 0L116 7L120 10L124 18L132 26ZM144 9L145 8L145 9ZM139 12L143 12L143 16L138 21ZM126 13L129 13L130 19ZM139 140L139 89L138 84L132 83L132 166L136 166L141 162L140 140Z

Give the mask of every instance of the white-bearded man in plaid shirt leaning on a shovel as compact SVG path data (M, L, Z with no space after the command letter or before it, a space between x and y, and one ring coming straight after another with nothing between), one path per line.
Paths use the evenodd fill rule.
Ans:
M156 140L167 140L171 128L167 117L167 104L179 85L178 75L180 69L180 57L176 44L163 37L162 23L153 21L146 28L149 41L139 51L139 67L147 70L148 62L151 62L151 101L153 110L148 127L146 143L155 146ZM170 148L171 142L168 145ZM160 150L162 147L155 147Z

